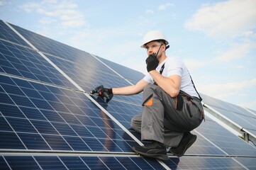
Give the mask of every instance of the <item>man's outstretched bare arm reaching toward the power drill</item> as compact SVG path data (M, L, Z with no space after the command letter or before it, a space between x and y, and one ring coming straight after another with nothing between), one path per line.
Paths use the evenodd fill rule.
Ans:
M132 95L132 94L139 94L145 86L147 86L149 83L145 81L144 79L141 79L138 81L137 84L133 86L124 86L124 87L118 87L118 88L112 88L113 94L116 95Z

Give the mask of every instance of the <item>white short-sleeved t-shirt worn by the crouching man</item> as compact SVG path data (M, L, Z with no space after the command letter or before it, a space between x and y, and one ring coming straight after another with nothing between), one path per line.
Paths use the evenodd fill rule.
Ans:
M164 62L157 66L157 72L160 72L162 64L164 63L165 68L163 69L162 76L169 77L172 75L178 75L182 77L182 84L180 90L184 91L190 96L195 96L199 98L199 95L196 93L196 90L194 89L194 84L191 81L189 71L187 70L185 64L176 57L167 57L167 59ZM143 79L150 84L154 84L155 82L149 73L147 73Z

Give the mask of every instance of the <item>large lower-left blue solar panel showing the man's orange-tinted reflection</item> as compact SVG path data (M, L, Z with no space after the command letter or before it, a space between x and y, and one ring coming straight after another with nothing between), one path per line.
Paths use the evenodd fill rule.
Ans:
M1 81L0 81L1 82ZM84 94L80 92L74 92L74 91L69 91L65 89L54 89L53 87L50 86L45 86L43 84L36 84L33 82L30 83L22 83L20 80L16 81L17 84L21 84L23 86L33 88L33 89L28 89L28 88L23 88L21 87L20 89L16 90L18 94L23 95L25 98L29 98L29 100L34 104L34 105L28 105L28 106L12 106L12 108L15 108L18 113L14 114L13 117L22 117L25 118L24 115L30 120L30 122L26 121L23 125L17 125L18 118L8 118L7 120L10 120L10 124L13 125L13 128L18 131L18 132L28 132L30 134L37 134L37 132L40 132L40 134L47 135L48 139L44 139L45 141L48 142L50 140L49 135L54 135L54 137L60 138L62 135L65 137L75 137L77 135L81 135L83 137L83 141L90 139L89 137L99 137L101 141L96 140L102 147L99 147L100 150L104 149L107 150L106 147L103 147L104 144L101 144L100 142L109 141L108 143L112 143L115 145L115 142L118 142L121 147L126 147L125 149L118 149L118 152L121 152L122 150L129 150L130 145L128 145L126 142L123 141L123 138L120 136L121 128L116 125L116 123L113 123L113 120L109 119L104 112L102 112L99 108L97 108L94 104L89 101L89 99L84 96ZM4 84L3 82L1 82ZM8 88L8 85L5 84L4 88ZM16 87L16 86L14 86ZM16 88L17 89L17 88ZM26 93L24 93L24 89L26 89ZM28 95L28 91L30 91L30 94L32 93L31 91L35 91L37 89L37 94L35 96L33 95ZM2 89L4 91L4 89ZM9 91L9 94L12 96L16 92L15 91ZM3 92L4 93L4 92ZM55 96L54 98L48 98L49 100L45 100L45 98L38 98L38 96L44 96L45 94L48 94L50 96ZM52 100L52 101L50 101ZM59 101L59 103L56 102ZM63 102L62 102L63 100ZM60 109L60 103L66 103L65 105L62 104L62 106L66 107L68 106L67 103L72 102L74 105L69 105L72 106L73 110L76 110L76 108L79 108L79 115L74 114L78 113L77 111L72 113L65 113L69 110L65 110L65 112L61 111L56 111ZM3 105L5 106L5 105ZM75 106L75 109L74 109ZM91 108L89 108L91 107ZM8 116L6 111L10 111L10 109L6 107L1 107L1 113L5 116ZM20 110L21 109L21 110ZM63 109L63 108L61 108ZM12 109L13 110L13 109ZM23 113L22 113L22 112ZM15 112L14 112L15 113ZM22 116L21 116L22 115ZM104 119L102 119L104 118ZM13 123L13 120L14 121ZM32 124L31 124L32 123ZM37 130L33 130L34 128L28 128L30 125ZM21 126L21 128L19 128ZM28 129L27 129L28 128ZM116 133L116 130L120 133ZM124 132L123 132L124 133ZM62 138L61 138L62 139ZM112 142L110 139L115 140L115 142ZM71 140L72 141L72 140ZM81 141L81 140L80 140ZM90 140L91 141L91 140ZM124 145L121 145L121 143L124 143ZM50 140L50 142L52 142ZM66 144L64 144L66 143ZM62 139L62 145L67 145L67 141ZM85 142L86 143L86 142ZM49 144L49 143L48 143ZM95 144L95 141L94 141ZM26 144L25 144L26 145ZM53 145L55 149L60 149L62 147L58 147L57 144L53 142L53 144L49 144L50 147ZM70 144L69 144L70 145ZM92 145L92 144L90 144ZM89 146L89 150L96 149L97 151L99 150L97 146L94 147L94 145ZM35 143L34 148L38 147ZM31 146L33 147L33 146ZM118 147L114 147L116 149ZM38 148L40 149L40 148ZM111 150L114 150L113 148L108 148Z

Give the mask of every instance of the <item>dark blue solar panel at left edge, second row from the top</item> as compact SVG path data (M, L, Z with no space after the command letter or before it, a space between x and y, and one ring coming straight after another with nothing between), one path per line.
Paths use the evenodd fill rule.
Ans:
M2 40L0 40L0 49L0 67L5 73L75 89L71 82L35 50Z

